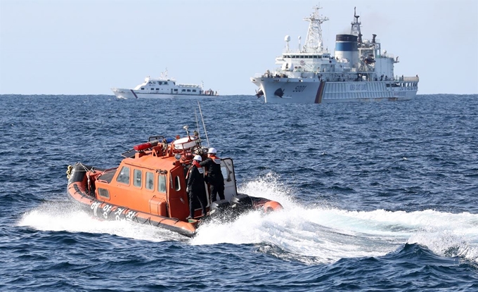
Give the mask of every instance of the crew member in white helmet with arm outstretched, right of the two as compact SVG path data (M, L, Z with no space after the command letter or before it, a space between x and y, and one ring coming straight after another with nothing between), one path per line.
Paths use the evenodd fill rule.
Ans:
M216 148L209 148L207 151L207 159L200 163L207 169L207 182L210 186L211 201L216 201L216 195L219 199L224 200L224 177L221 172L221 158L216 156Z

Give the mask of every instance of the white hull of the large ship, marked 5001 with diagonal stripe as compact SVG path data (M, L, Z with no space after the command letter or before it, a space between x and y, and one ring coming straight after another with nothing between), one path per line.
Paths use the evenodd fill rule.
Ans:
M408 101L418 91L418 82L390 80L327 82L318 79L252 77L251 81L264 92L266 103Z

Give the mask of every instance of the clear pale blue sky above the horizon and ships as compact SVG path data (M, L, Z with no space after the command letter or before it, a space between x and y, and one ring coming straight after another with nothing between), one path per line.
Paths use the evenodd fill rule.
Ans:
M0 94L112 94L148 75L221 95L254 94L250 77L305 42L319 1L0 0ZM478 94L477 0L320 1L324 44L362 34L399 56L395 75L420 76L418 94Z

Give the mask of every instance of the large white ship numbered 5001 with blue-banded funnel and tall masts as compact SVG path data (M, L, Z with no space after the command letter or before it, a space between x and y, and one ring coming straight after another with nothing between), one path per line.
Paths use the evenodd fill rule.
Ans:
M256 96L266 103L336 103L347 101L410 100L418 91L418 75L394 76L399 57L382 51L375 39L362 39L359 15L354 11L350 34L337 34L335 54L323 48L321 24L328 18L319 15L321 7L304 20L309 31L304 46L286 47L276 58L280 68L251 78ZM299 37L300 42L300 37Z

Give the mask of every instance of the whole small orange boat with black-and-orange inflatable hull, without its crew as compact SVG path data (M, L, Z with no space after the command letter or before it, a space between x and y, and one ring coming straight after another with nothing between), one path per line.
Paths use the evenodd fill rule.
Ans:
M194 236L202 222L221 216L234 220L250 210L271 212L282 205L266 198L238 193L231 158L221 159L224 177L224 200L211 203L209 187L207 215L202 217L199 202L195 202L195 217L189 216L186 193L186 173L194 155L205 159L208 148L201 146L198 136L167 139L149 137L143 144L122 153L118 167L102 169L83 163L67 167L67 193L82 208L102 220L129 220L151 224L185 236Z

